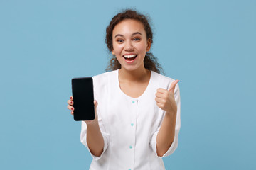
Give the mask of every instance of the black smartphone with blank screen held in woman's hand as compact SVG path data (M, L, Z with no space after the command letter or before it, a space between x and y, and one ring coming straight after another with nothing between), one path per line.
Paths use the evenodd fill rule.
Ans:
M72 94L74 101L74 120L94 120L94 96L92 77L72 79Z

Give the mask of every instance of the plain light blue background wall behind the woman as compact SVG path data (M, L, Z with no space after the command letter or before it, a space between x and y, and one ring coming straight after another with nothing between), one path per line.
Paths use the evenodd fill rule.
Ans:
M0 169L88 169L66 108L73 77L105 72L105 28L151 16L151 51L180 79L181 131L166 169L256 169L256 1L0 1Z

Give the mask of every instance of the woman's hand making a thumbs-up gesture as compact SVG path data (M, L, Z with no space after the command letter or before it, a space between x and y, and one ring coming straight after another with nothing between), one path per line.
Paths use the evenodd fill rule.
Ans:
M169 90L159 88L156 91L156 105L159 106L166 113L177 113L177 105L174 98L174 89L179 80L171 83Z

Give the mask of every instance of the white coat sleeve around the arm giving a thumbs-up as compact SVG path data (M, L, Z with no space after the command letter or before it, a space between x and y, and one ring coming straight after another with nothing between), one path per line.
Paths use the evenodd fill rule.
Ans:
M178 147L178 132L181 129L181 98L180 98L180 91L179 91L178 84L176 84L176 87L174 90L174 98L175 98L175 101L177 104L177 115L176 115L174 141L172 142L172 144L169 147L169 149L167 150L167 152L161 157L169 156L170 154L174 153L175 149ZM156 152L156 137L158 135L159 130L160 130L160 126L157 128L156 132L154 132L154 134L151 138L151 142L150 142L150 146L153 149L153 151L157 157L159 157L159 156L157 155L157 152Z

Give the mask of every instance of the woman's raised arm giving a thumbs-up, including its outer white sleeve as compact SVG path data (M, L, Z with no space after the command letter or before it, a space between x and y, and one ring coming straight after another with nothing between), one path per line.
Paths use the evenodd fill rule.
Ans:
M178 80L173 81L169 90L158 89L156 93L157 106L166 111L156 136L156 153L159 157L164 157L169 150L169 154L171 154L177 147L178 131L180 128L180 96L178 85L174 94L177 83Z

